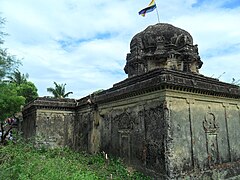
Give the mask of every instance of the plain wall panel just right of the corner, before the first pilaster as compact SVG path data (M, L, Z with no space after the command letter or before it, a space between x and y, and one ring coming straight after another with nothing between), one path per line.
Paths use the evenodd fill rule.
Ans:
M186 172L193 169L192 155L192 117L189 101L183 98L171 99L169 120L168 153L173 173Z

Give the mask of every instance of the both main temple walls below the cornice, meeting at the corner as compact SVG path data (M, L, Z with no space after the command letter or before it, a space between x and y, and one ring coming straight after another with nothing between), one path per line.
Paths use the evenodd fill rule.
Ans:
M161 178L204 178L210 170L212 177L231 177L223 167L237 171L239 114L239 100L160 90L99 104L97 110L79 108L81 138L75 146L105 151Z

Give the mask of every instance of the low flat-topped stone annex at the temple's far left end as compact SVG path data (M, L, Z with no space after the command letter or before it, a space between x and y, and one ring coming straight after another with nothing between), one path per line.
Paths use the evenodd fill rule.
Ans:
M49 147L73 146L75 100L38 98L23 111L22 131L25 138Z

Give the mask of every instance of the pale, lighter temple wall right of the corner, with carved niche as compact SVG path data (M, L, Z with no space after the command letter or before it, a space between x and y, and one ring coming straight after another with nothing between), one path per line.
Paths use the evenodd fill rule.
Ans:
M170 177L231 167L240 160L239 100L168 91L166 102ZM218 178L230 172L224 173Z

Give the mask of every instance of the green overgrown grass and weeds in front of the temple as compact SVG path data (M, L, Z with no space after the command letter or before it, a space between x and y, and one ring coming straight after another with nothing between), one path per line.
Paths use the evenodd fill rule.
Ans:
M89 155L70 149L34 148L31 144L0 146L0 179L150 179L131 171L120 159L107 165L101 154Z

